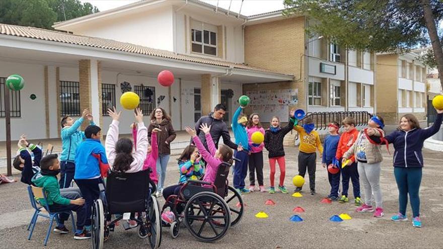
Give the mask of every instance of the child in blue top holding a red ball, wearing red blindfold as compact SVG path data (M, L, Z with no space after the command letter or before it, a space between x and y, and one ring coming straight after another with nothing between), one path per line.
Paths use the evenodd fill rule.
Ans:
M329 135L325 138L325 144L323 145L323 156L322 163L323 168L328 168L329 164L333 164L334 167L339 168L339 165L336 165L338 162L335 159L335 154L337 153L337 145L340 140L340 135L338 134L338 129L340 126L337 122L332 122L328 126ZM331 193L328 195L328 199L331 201L338 200L338 188L340 186L340 173L331 174L328 171L328 180L331 185Z

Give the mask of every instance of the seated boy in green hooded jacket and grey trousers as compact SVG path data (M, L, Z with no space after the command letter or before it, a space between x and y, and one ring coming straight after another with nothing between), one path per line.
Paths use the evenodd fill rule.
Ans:
M43 188L46 193L47 203L45 203L44 199L39 199L38 201L43 206L48 204L48 211L51 212L75 211L77 213L77 230L74 238L91 238L91 233L84 231L83 227L87 217L85 200L82 199L77 192L65 192L63 195L60 194L56 177L58 173L60 173L60 162L57 157L57 154L44 156L40 161L41 171L32 178L34 185ZM68 218L69 213L60 213L58 224L54 231L68 233L69 231L63 224Z

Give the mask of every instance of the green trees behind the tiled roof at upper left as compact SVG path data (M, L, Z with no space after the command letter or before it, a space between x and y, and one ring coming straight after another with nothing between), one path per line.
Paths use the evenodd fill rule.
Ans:
M0 23L52 29L54 22L99 12L78 0L1 0ZM66 17L66 18L65 18Z

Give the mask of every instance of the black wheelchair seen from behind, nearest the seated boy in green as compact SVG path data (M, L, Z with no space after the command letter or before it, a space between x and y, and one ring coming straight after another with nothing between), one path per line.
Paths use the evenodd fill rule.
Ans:
M148 238L151 248L158 248L162 240L159 202L152 194L156 184L149 174L151 169L136 173L110 172L106 187L99 185L100 197L92 207L92 243L94 249L102 249L115 223L123 219L124 213L137 222L140 238ZM111 216L115 219L111 220ZM134 214L137 214L135 217ZM131 227L124 226L125 230Z

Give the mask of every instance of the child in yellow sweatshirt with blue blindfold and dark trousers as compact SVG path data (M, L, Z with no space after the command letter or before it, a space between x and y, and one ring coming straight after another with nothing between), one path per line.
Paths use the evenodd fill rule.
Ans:
M308 169L311 195L315 195L316 149L319 150L321 155L323 154L322 142L314 127L315 125L310 117L304 119L303 127L299 125L294 126L294 130L299 133L300 137L299 175L305 177L306 169ZM295 190L295 192L300 191L302 191L301 187L297 187Z

